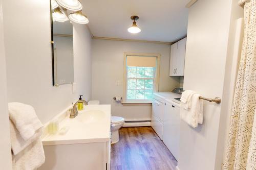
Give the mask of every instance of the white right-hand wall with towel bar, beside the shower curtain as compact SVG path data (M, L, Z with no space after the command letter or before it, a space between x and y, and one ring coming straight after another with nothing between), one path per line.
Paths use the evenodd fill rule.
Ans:
M220 121L228 100L225 87L230 32L230 1L199 0L189 9L184 89L196 90L206 98L219 96L223 103L204 102L204 123L193 129L181 122L180 170L221 169L224 141L218 142L226 121ZM238 8L238 6L236 6ZM239 7L240 8L240 7ZM226 63L227 62L227 63ZM227 76L227 77L226 77Z

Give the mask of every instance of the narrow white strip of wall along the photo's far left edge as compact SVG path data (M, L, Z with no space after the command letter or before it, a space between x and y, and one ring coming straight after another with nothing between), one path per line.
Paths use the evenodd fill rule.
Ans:
M11 144L7 103L6 57L3 28L3 1L0 0L0 169L11 170Z

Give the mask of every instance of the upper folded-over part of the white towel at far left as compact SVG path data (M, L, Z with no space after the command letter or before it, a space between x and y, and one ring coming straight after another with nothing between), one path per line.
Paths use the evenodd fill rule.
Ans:
M32 106L23 103L9 103L8 108L10 119L24 140L31 138L42 127Z

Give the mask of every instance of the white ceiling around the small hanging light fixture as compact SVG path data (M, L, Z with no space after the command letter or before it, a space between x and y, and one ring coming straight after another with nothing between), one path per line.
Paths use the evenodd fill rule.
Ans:
M190 0L81 0L95 37L174 42L186 36ZM130 17L138 15L141 32L131 34Z

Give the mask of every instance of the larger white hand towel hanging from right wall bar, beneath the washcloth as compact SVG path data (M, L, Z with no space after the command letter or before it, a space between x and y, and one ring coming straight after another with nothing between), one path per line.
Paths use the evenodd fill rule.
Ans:
M191 96L190 109L186 109L186 104L181 102L181 119L193 128L203 124L203 101L199 99L200 96L197 93Z

